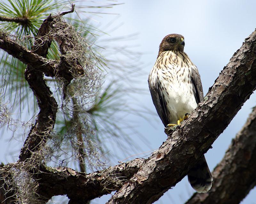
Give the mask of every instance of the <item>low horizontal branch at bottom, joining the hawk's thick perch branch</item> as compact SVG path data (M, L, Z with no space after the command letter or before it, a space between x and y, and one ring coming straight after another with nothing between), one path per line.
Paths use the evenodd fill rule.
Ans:
M71 201L69 203L86 203L120 189L124 181L130 179L143 162L144 159L134 159L91 174L69 168L41 167L39 173L34 176L39 183L36 193L48 199L54 195L67 194Z

